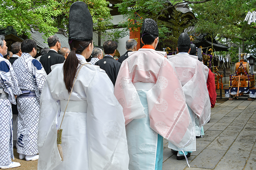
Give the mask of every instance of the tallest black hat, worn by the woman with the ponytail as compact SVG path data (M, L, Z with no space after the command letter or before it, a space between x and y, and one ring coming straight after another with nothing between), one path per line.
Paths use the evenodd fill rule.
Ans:
M92 40L92 16L84 2L74 2L69 11L69 39Z

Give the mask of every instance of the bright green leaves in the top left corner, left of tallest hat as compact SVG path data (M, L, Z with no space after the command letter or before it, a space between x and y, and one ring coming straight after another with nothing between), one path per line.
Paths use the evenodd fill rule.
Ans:
M55 0L5 0L0 4L0 26L13 26L19 35L27 34L29 25L38 26L45 36L55 33L52 16L57 16L60 10Z

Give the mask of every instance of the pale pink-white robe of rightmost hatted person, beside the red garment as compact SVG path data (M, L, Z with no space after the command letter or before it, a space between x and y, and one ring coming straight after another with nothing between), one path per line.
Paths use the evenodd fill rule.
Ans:
M195 124L202 127L210 120L211 116L211 102L206 85L209 69L204 68L194 55L188 53L170 55L168 60L174 64L177 70L194 128ZM181 151L172 143L169 143L168 147ZM193 143L183 151L196 151L195 134Z

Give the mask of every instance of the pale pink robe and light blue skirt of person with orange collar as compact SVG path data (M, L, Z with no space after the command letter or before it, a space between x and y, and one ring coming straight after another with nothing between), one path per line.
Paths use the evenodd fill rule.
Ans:
M155 170L156 133L183 148L191 144L195 132L178 74L164 57L166 53L141 48L128 55L116 79L115 96L124 108L129 169ZM146 99L138 95L141 90L146 92ZM143 121L145 117L148 120Z

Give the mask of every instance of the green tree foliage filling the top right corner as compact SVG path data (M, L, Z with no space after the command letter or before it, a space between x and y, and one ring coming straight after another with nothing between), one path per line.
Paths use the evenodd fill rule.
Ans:
M244 21L246 10L256 5L256 0L212 0L203 4L191 5L195 13L196 31L209 33L209 36L219 42L225 42L229 38L243 48L244 53L250 53L256 48L256 29ZM230 48L232 62L237 62L238 48Z

